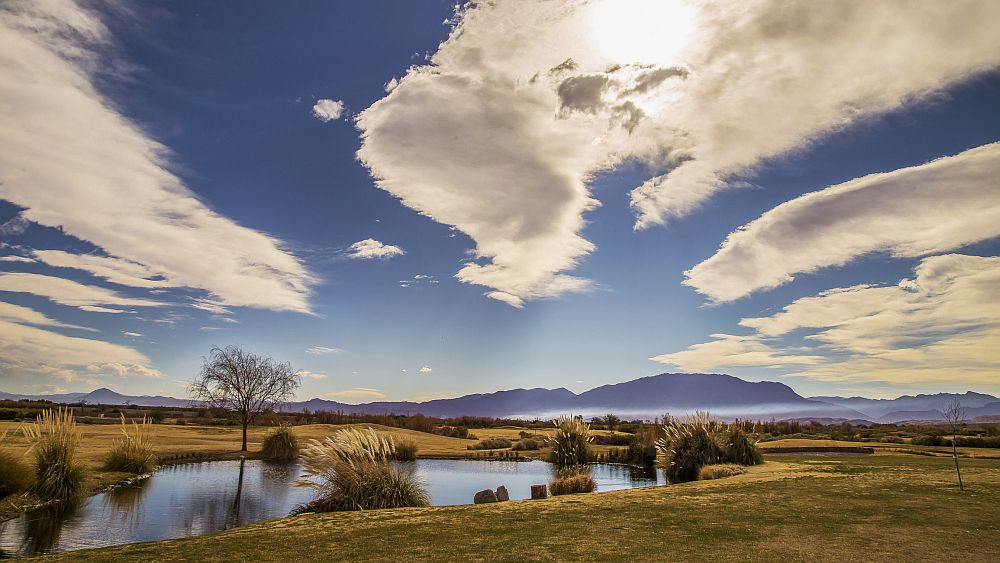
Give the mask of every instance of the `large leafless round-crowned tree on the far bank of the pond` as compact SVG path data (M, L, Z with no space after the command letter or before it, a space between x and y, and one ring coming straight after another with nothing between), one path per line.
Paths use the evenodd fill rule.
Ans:
M251 354L239 346L215 347L191 383L191 395L237 414L243 425L241 451L245 452L247 428L257 415L291 398L300 383L298 372L287 362Z

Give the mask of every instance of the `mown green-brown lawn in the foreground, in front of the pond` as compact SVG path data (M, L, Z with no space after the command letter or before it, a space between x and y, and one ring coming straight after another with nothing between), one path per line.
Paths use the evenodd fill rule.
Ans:
M767 456L748 473L542 501L304 515L52 561L995 560L1000 462ZM849 469L849 470L845 470ZM586 531L587 533L581 533ZM665 555L667 554L667 555Z

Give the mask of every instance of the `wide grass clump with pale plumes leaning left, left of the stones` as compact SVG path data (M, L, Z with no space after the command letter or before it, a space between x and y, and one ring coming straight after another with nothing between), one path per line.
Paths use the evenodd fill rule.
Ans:
M392 436L370 428L310 440L302 452L303 475L316 481L299 484L317 488L321 495L297 512L427 506L427 490L413 472L389 463L398 457Z

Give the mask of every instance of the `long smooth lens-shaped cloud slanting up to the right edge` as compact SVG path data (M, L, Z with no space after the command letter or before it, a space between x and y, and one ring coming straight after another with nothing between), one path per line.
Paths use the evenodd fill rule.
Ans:
M797 197L730 234L684 283L731 301L871 252L918 257L1000 236L998 177L993 143Z

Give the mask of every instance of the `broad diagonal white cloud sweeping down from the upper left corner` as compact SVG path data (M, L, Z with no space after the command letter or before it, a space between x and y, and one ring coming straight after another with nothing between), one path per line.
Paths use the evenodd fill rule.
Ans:
M281 241L209 209L170 172L166 147L95 88L113 51L95 12L4 2L0 44L0 198L25 220L226 305L309 311L314 280ZM101 275L115 267L76 260Z

